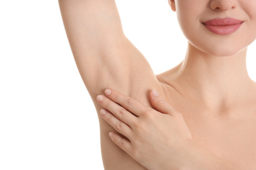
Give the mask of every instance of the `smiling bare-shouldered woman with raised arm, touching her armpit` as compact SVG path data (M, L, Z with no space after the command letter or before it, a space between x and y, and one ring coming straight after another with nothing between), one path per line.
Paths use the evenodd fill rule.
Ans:
M256 169L256 84L245 63L256 1L170 0L188 49L161 75L125 37L114 0L59 4L105 169Z

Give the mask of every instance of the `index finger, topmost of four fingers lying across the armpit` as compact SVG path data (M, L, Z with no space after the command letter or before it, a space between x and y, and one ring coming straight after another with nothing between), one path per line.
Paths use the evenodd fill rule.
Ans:
M127 95L123 95L116 90L107 89L105 90L105 94L109 99L123 106L125 109L129 110L136 116L141 116L141 113L144 112L144 109L146 108L138 101L135 101L135 99L132 99Z

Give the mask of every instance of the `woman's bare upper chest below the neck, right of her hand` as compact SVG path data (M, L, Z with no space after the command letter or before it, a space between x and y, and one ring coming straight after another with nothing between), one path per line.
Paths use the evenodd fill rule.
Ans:
M256 169L256 99L218 112L166 89L165 99L182 113L194 141L240 169Z

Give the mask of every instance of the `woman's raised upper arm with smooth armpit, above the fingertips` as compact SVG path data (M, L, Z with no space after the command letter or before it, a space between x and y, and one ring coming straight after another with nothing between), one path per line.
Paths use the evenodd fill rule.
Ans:
M137 80L142 87L156 80L144 56L125 37L114 0L59 4L77 68L93 98L105 88L130 94Z

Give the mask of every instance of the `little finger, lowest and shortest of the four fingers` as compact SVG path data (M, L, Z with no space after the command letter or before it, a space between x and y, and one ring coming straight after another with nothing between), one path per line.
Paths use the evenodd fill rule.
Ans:
M130 141L127 141L126 139L123 139L122 137L120 137L119 135L117 135L114 132L110 132L109 135L110 135L110 138L112 139L112 141L117 146L119 146L119 148L121 148L122 150L127 152L127 154L131 154L132 145L131 145Z

